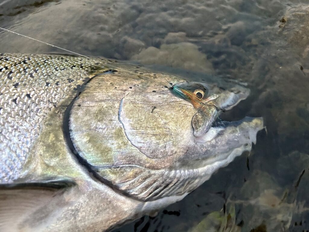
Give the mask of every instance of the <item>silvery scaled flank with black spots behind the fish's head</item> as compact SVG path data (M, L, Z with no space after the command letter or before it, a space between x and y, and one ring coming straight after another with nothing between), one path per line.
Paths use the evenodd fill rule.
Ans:
M104 65L99 58L0 54L0 183L21 177L44 117Z

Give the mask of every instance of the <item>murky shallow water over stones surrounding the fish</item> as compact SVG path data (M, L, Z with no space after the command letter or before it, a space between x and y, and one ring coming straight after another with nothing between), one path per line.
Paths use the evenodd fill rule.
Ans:
M11 0L0 15L1 27L83 55L248 83L251 96L221 118L264 117L267 133L250 156L115 231L309 230L308 1ZM67 53L9 32L0 38L1 52Z

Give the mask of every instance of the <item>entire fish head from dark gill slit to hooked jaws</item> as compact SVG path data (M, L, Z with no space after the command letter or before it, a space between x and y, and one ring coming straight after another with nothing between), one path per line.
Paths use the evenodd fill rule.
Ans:
M177 88L192 94L201 88L202 108ZM222 110L248 95L237 84L227 88L164 74L98 76L70 109L74 153L95 178L124 195L176 201L251 150L262 118L215 124Z

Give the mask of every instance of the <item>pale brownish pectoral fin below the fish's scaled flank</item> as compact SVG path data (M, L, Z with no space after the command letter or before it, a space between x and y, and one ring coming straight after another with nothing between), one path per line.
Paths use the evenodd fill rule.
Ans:
M0 185L0 231L45 228L76 195L75 186L68 180Z

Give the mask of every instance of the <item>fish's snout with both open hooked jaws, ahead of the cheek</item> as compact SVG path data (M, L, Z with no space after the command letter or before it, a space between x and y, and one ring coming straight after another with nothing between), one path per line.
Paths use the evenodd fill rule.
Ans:
M189 154L193 159L180 161L179 165L199 170L199 175L205 181L205 178L207 179L208 175L210 177L214 170L228 165L244 151L250 151L252 143L256 143L256 133L264 128L264 123L263 118L251 117L234 122L218 120L218 115L222 111L232 109L249 96L248 88L236 85L227 90L202 83L179 83L173 86L173 92L181 97L181 94L176 91L186 95L186 91L191 91L193 86L194 88L204 87L206 97L199 99L198 108L197 103L193 104L197 109L197 113L192 118L195 145L192 148L192 154ZM193 100L192 97L186 96L186 98Z

